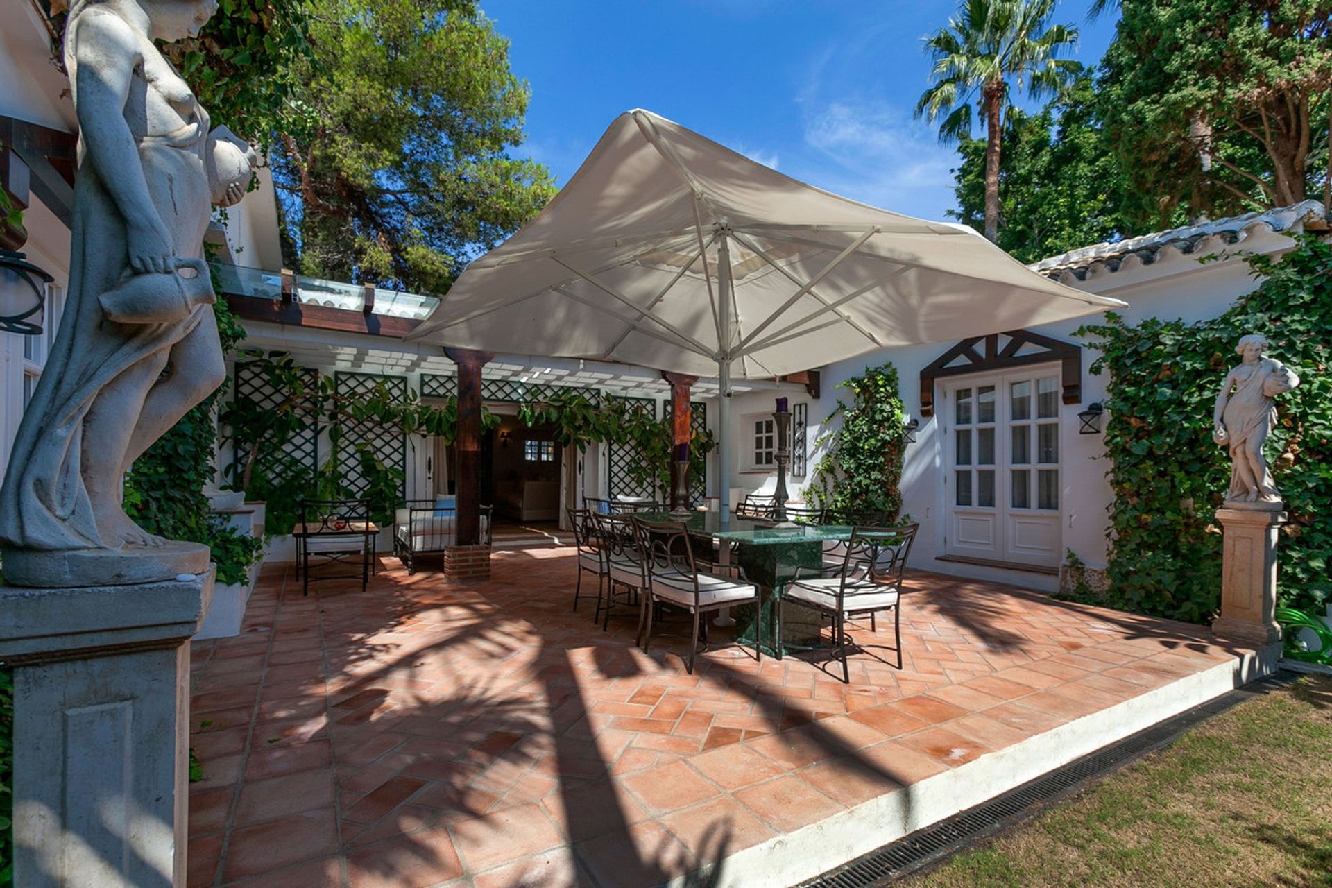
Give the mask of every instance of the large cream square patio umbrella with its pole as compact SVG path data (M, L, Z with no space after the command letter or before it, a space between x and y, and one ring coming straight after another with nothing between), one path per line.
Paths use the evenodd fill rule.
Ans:
M408 339L715 373L725 467L734 378L1123 305L1032 273L970 228L858 204L630 111ZM719 493L725 511L725 481Z

